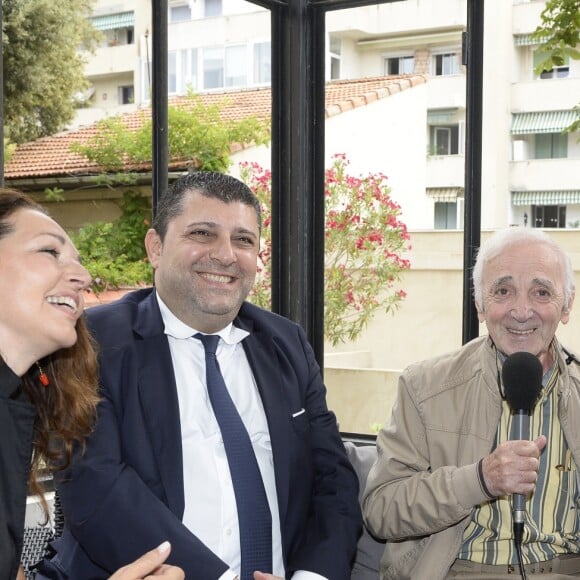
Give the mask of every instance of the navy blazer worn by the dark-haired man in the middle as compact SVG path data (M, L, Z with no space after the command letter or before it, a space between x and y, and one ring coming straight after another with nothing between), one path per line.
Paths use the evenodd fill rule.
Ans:
M188 580L219 578L228 565L181 522L177 389L155 291L91 308L87 319L102 402L84 456L59 477L67 524L52 563L74 580L107 578L169 540L169 562ZM250 332L243 346L270 430L287 577L303 569L347 580L361 529L358 482L314 353L300 326L249 303L234 323Z

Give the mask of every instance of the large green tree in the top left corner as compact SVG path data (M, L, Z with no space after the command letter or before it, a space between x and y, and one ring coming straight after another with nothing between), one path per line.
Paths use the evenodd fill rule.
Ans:
M93 50L93 0L3 0L4 122L13 143L62 130L86 88L79 48Z

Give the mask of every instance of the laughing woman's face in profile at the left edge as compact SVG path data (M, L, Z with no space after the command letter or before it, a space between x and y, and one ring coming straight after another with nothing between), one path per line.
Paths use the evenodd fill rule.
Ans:
M72 346L90 276L64 230L50 217L19 209L0 239L0 353L17 374Z

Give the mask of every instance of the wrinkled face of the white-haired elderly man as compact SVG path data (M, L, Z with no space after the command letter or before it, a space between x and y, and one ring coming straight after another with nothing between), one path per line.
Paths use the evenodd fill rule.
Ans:
M482 299L479 320L497 348L534 354L547 371L550 343L572 307L571 300L564 308L564 268L554 251L529 242L506 248L484 265Z

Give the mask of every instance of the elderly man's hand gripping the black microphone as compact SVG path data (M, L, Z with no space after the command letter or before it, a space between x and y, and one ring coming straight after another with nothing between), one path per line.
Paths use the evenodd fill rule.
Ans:
M484 457L483 478L489 492L498 497L512 493L527 495L534 491L540 453L546 442L544 435L535 441L506 441Z

